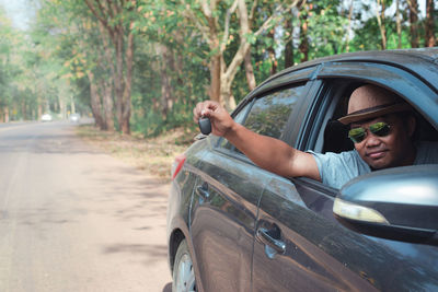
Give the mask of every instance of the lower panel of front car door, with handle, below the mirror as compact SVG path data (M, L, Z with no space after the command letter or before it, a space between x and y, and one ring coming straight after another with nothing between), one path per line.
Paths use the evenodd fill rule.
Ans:
M299 196L285 197L285 189L297 190ZM260 205L253 291L438 288L436 247L377 238L344 227L332 212L335 194L306 178L273 178Z

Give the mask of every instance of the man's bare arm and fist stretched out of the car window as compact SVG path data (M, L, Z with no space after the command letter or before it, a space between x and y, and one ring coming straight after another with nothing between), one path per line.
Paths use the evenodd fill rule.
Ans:
M197 104L194 119L208 117L211 132L223 136L260 167L285 177L306 176L321 182L313 155L291 148L287 143L255 133L235 122L227 110L216 102Z

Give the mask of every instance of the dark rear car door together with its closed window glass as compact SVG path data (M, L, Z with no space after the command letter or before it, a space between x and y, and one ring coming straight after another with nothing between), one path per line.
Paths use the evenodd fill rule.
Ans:
M304 91L306 83L300 83L257 96L235 119L280 138ZM198 168L191 235L201 289L250 291L257 206L273 174L256 167L226 139L205 153Z

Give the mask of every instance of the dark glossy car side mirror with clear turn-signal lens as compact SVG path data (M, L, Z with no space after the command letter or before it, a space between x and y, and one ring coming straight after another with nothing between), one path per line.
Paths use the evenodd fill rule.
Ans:
M333 212L345 226L367 235L438 245L438 165L357 177L341 189Z

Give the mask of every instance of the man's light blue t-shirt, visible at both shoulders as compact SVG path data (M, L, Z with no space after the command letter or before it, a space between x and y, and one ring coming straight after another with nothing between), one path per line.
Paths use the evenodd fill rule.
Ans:
M371 172L369 165L356 150L325 154L308 151L315 157L322 183L333 188L341 188L350 179ZM420 142L414 165L438 164L438 143Z

